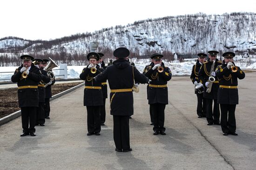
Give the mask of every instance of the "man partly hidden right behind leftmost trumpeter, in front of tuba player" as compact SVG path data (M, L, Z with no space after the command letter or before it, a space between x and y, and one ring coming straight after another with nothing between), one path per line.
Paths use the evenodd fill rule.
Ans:
M36 125L45 126L45 84L50 82L50 77L47 76L47 71L43 70L43 60L34 59L32 60L34 65L40 69L42 74L42 80L38 84L38 92L39 92L39 104L36 110Z

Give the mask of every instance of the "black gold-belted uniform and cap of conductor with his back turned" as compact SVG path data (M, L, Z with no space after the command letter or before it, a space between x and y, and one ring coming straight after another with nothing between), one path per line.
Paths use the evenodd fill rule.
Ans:
M116 151L131 151L129 139L129 116L133 114L134 79L140 83L147 83L148 78L143 76L135 67L124 58L129 56L129 50L118 48L114 51L118 57L112 65L95 77L97 82L108 80L110 91L110 114L114 120L114 141ZM134 76L133 76L134 72Z

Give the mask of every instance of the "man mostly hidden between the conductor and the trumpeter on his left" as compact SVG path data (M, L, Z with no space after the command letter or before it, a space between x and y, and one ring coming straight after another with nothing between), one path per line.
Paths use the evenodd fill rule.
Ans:
M104 69L107 68L105 66L105 63L103 61L103 56L104 54L98 52L100 59L99 59L99 66L100 66L100 71L103 72ZM101 89L102 89L102 94L103 94L103 105L101 106L101 126L104 126L105 121L106 121L106 99L108 98L108 85L107 82L101 82Z

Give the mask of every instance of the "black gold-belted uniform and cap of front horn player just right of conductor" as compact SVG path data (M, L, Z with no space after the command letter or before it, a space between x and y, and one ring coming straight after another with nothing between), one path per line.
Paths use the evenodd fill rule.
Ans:
M162 58L161 54L153 54L151 59ZM158 69L153 70L153 66L148 67L148 71L145 73L151 82L149 82L148 88L148 104L152 107L154 134L165 134L164 127L164 109L168 104L168 88L167 82L171 80L172 73L168 67L161 64L163 71L160 73Z

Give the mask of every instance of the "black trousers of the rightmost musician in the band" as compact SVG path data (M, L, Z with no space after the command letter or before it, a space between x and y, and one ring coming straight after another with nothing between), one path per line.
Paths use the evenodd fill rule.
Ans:
M236 132L236 105L220 104L222 132Z

